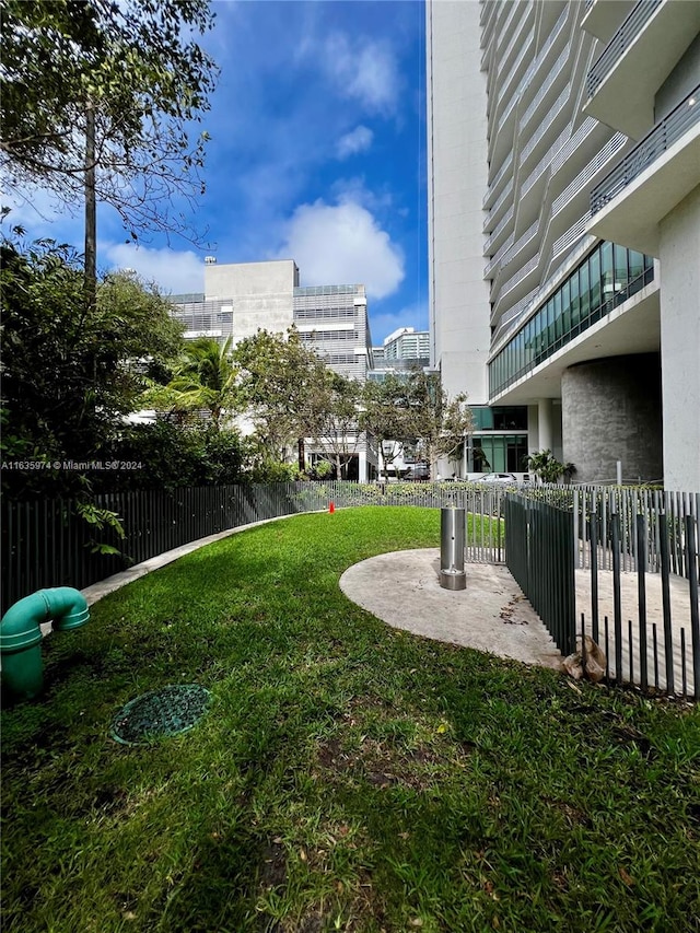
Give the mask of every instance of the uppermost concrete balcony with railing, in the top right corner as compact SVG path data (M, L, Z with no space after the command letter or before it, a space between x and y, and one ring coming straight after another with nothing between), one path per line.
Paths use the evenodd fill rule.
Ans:
M656 92L699 30L700 3L640 0L588 72L584 113L642 139Z

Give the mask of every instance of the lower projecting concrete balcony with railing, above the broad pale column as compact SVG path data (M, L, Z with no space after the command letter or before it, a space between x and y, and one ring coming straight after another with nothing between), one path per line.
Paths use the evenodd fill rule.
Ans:
M591 193L587 232L658 256L658 222L700 184L700 85Z

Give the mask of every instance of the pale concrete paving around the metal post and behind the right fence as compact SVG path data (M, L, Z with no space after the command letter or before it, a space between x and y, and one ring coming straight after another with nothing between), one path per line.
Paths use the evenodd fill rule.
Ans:
M340 578L342 592L353 603L393 626L425 638L491 652L526 664L561 668L562 656L520 586L503 564L467 563L467 586L463 591L443 590L440 585L440 550L395 551L363 560ZM604 616L609 619L608 663L615 674L612 574L600 571L599 619L604 642ZM629 673L629 637L627 619L633 620L635 679L639 677L638 580L634 573L621 574L622 593L622 672ZM689 691L692 689L690 599L688 582L670 580L674 630L675 687L682 683L680 628L685 628L686 669ZM652 625L656 623L658 680L665 689L663 646L663 608L661 578L646 575L649 680L654 684ZM586 615L591 625L591 573L576 571L576 618ZM580 628L580 621L578 623Z

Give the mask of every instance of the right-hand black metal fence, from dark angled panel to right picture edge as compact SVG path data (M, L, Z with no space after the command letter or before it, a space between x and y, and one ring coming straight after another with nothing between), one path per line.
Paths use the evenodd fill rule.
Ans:
M527 495L572 514L578 633L603 649L608 683L699 697L700 493L579 486Z

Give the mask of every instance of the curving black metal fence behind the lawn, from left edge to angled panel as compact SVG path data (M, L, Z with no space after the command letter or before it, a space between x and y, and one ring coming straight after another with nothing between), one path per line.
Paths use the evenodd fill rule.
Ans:
M119 492L95 497L97 509L116 513L126 537L97 529L77 514L75 503L4 501L0 548L0 609L45 586L82 590L113 573L198 538L266 518L351 505L456 505L475 513L467 525L470 559L502 561L505 493L460 483L285 482ZM96 544L117 548L105 555Z

